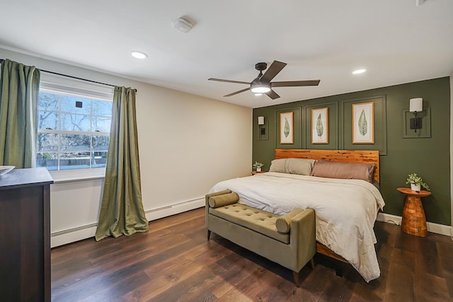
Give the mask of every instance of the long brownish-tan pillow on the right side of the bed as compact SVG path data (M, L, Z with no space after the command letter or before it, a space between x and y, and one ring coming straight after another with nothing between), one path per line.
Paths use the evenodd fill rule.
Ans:
M311 169L312 176L320 178L343 178L372 182L375 165L372 163L338 163L316 161Z

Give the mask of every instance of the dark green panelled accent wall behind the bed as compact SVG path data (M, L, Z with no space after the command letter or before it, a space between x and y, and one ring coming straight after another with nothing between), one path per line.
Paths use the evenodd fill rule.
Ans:
M407 175L415 172L432 192L422 199L427 221L449 226L449 85L445 77L255 108L252 161L265 163L263 170L268 170L275 148L379 150L384 213L401 216L404 195L396 188L408 187ZM407 129L411 98L423 98L423 109L430 108L429 115L422 115L420 137ZM352 144L352 104L367 102L374 103L374 143ZM328 144L311 143L311 110L316 108L328 108ZM280 144L280 113L289 111L294 112L294 144ZM265 117L266 139L260 136L258 116Z

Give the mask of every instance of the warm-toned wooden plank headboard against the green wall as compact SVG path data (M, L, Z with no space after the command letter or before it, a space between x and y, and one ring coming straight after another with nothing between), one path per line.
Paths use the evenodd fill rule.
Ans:
M379 151L275 149L275 158L311 158L341 163L374 163L373 178L379 182Z

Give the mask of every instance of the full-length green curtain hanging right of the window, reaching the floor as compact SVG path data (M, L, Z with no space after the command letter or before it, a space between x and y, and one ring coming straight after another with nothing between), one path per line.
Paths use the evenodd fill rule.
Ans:
M135 90L115 87L96 240L148 231L142 204Z

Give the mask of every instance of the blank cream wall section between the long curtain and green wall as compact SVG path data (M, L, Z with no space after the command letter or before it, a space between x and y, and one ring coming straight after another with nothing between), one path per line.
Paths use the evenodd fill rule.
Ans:
M137 103L145 209L198 199L251 170L251 109L153 86ZM152 121L152 122L151 122Z

